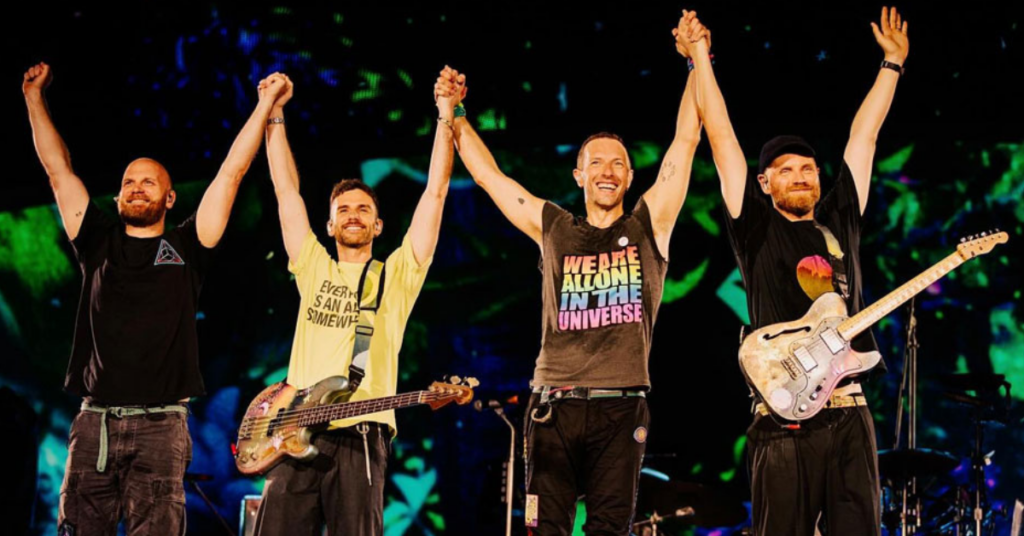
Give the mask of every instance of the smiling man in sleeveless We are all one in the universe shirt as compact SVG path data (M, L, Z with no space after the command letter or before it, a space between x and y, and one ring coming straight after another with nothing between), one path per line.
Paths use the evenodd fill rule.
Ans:
M684 33L689 18L680 19ZM461 96L464 84L445 70L437 94ZM647 441L651 332L700 135L693 79L660 173L632 213L623 198L633 170L618 136L602 132L581 147L572 174L587 215L577 217L502 173L459 116L456 147L473 179L541 248L541 353L525 419L526 526L530 534L569 534L585 496L584 532L628 535Z

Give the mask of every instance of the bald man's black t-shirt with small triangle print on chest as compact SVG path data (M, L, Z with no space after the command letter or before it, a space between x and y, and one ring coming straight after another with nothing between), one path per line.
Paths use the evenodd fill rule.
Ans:
M72 241L82 267L65 388L103 404L158 404L205 394L196 314L212 250L193 214L133 238L93 203Z

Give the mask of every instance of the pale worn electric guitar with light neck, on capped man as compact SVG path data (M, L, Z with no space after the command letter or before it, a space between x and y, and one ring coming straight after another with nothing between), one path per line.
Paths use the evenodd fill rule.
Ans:
M961 240L956 251L853 317L835 292L822 294L804 318L751 333L739 347L739 368L748 383L776 415L806 420L820 411L844 378L870 370L882 355L850 347L862 331L943 276L996 245L1006 233L982 233Z

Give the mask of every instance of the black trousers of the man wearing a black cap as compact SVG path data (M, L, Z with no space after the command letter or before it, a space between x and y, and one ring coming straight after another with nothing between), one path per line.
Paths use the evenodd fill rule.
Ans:
M758 415L746 437L755 535L813 536L815 525L827 536L882 534L867 407L822 410L798 430Z

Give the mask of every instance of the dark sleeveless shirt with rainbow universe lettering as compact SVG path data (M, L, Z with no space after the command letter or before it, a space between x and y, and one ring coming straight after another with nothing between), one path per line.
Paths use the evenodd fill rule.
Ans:
M650 386L647 359L668 260L643 198L606 229L543 212L544 315L534 385Z

